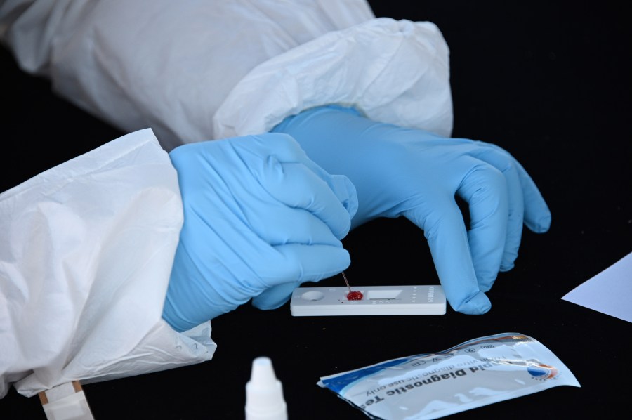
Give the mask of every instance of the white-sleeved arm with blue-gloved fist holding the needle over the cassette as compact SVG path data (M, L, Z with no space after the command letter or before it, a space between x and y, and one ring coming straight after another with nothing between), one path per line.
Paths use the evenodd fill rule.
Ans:
M209 360L211 318L348 266L355 209L277 133L167 155L145 129L3 192L0 398Z

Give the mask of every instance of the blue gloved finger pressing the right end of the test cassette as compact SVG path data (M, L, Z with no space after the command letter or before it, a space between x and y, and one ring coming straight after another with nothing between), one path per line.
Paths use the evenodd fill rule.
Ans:
M463 215L453 197L429 200L404 214L428 239L437 275L452 309L486 313L492 304L478 287Z

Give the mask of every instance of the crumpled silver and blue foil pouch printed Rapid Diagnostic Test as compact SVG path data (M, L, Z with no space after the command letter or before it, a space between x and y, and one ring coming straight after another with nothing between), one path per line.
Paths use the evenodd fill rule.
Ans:
M519 333L323 376L318 385L371 419L437 419L554 386L577 386L546 346Z

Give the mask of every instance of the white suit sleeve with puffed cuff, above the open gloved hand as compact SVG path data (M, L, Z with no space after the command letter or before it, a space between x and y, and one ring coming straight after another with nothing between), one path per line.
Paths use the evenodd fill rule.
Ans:
M327 103L448 136L449 51L364 0L6 0L0 37L72 103L166 150Z

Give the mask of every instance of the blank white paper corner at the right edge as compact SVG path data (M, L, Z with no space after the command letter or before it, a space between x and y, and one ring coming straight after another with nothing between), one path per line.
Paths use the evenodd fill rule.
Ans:
M562 299L632 322L632 252Z

